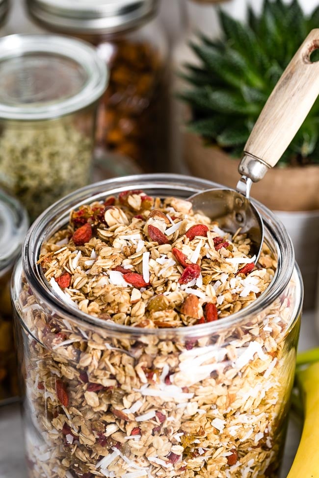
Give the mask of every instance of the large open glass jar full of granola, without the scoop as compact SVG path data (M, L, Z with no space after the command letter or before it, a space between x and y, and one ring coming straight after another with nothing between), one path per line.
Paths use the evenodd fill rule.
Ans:
M107 180L29 230L12 299L30 478L277 476L300 273L260 203L257 268L249 238L193 214L214 186Z

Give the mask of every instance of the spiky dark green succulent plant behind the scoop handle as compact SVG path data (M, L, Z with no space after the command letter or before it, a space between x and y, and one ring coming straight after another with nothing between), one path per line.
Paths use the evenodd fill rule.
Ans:
M199 33L190 44L199 62L186 64L189 87L180 95L190 106L189 128L233 156L240 156L269 94L312 28L319 27L319 7L307 17L297 0L265 0L257 15L247 9L247 23L219 11L222 36ZM311 61L319 58L319 51ZM319 101L278 165L319 163Z

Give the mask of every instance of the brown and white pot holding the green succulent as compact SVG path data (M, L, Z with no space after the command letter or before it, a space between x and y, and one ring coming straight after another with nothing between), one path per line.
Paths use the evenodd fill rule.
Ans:
M218 147L204 146L200 137L185 133L184 159L193 176L236 187L239 159ZM291 235L305 285L304 308L314 308L319 265L319 167L271 169L253 185L252 196L273 209Z

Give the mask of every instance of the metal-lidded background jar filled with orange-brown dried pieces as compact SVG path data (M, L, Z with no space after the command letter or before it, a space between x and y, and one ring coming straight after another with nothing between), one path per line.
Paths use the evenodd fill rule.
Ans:
M132 158L142 171L164 171L168 157L167 42L158 0L28 0L41 26L80 37L109 69L100 103L97 147Z

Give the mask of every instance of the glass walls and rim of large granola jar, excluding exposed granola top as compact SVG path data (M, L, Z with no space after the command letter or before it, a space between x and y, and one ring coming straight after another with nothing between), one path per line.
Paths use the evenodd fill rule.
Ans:
M302 282L291 240L266 207L254 201L275 277L255 302L208 324L103 321L56 295L37 264L43 241L82 203L127 189L187 198L215 186L178 175L115 178L57 202L29 230L12 300L30 478L277 476Z

